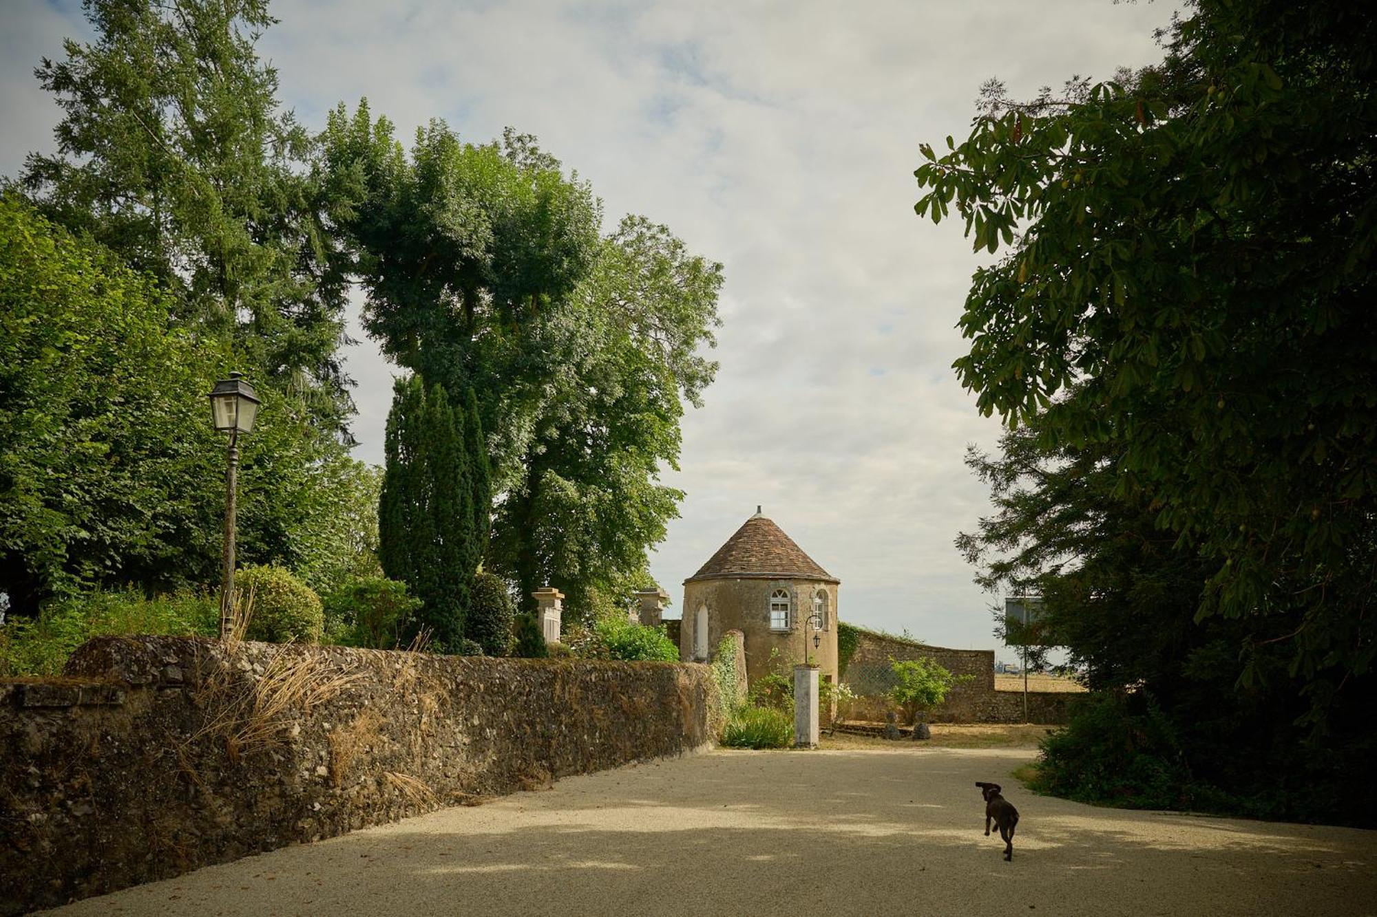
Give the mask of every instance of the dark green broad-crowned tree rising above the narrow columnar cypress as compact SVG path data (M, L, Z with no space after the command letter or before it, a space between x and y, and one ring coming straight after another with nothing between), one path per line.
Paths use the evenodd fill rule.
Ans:
M511 132L470 145L437 120L408 156L366 101L330 113L321 149L333 224L368 293L365 328L428 384L474 390L505 486L566 372L547 326L596 256L598 201Z

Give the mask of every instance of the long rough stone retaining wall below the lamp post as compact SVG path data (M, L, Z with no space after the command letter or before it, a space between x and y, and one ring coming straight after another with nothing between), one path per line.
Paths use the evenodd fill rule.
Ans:
M0 684L0 914L709 742L711 671L102 637Z

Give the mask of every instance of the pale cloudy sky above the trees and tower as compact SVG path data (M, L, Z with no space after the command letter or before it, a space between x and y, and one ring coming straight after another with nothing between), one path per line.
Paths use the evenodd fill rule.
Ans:
M402 136L512 125L592 182L609 227L644 213L724 264L722 369L684 421L666 481L688 496L651 565L676 609L760 504L841 578L843 618L989 649L991 598L953 548L989 509L965 447L998 436L950 369L978 262L954 224L914 216L918 143L964 135L987 77L1029 94L1157 59L1172 8L280 0L260 48L313 128L361 96ZM0 4L0 172L51 149L32 69L87 34L78 3ZM366 340L348 369L357 454L381 461L395 369Z

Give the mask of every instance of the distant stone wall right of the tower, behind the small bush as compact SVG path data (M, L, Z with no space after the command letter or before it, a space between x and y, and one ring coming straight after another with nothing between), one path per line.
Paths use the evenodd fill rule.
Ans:
M859 629L859 628L858 628ZM1023 723L1023 693L994 690L993 650L950 650L927 646L914 640L859 629L859 642L843 682L856 693L848 710L850 719L884 720L892 709L884 694L894 684L892 661L928 658L954 675L969 675L971 680L957 684L946 701L928 715L929 723ZM1030 723L1058 724L1067 721L1067 705L1078 694L1029 693Z

